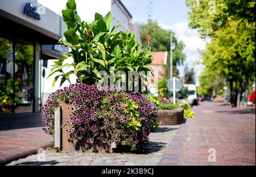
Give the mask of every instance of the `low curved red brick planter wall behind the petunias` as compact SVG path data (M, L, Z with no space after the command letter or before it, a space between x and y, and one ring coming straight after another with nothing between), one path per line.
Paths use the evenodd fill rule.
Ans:
M160 110L158 111L158 124L159 125L179 125L183 122L184 110L177 108L175 110Z

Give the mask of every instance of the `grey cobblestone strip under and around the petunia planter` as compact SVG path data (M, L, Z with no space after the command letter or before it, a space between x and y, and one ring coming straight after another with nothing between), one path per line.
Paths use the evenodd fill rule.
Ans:
M169 142L175 136L180 125L160 126L157 132L150 133L150 142L147 153L55 153L53 150L41 151L18 161L13 161L8 166L22 165L84 165L84 166L142 166L158 165L167 149Z

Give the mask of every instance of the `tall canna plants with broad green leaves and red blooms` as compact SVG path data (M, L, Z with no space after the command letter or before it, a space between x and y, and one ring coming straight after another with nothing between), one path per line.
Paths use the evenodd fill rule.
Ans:
M114 73L120 70L152 71L148 66L152 61L151 48L148 46L142 49L142 44L138 44L135 35L129 31L116 31L122 23L111 28L111 12L106 16L96 13L92 23L82 22L77 14L75 0L68 0L62 14L68 29L59 43L71 50L52 65L52 73L48 77L59 73L53 79L53 87L59 78L60 86L65 81L70 83L71 74L76 75L77 82L92 85L102 78L99 71L109 73L110 68L114 69ZM63 64L68 57L72 57L73 62ZM68 67L74 69L65 73L64 68Z

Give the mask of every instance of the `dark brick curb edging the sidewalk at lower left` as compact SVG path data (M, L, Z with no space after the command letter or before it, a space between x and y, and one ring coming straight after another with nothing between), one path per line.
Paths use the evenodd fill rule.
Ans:
M50 143L50 144L47 144L44 146L40 146L40 147L38 147L38 149L39 148L46 149L47 147L53 147L53 146L54 146L54 143ZM28 155L37 154L38 149L27 150L27 151L23 151L19 154L11 155L10 157L0 158L0 166L7 165L8 163L11 163L13 161L18 161L18 159L26 158L26 157L28 157Z

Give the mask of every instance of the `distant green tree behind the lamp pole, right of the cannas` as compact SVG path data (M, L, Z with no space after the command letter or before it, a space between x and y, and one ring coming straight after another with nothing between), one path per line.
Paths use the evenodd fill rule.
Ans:
M171 30L166 30L159 27L158 23L153 20L148 20L147 24L141 25L141 41L143 47L148 45L147 35L150 34L151 40L150 45L152 51L161 52L161 51L170 51L170 36L173 33L173 44L175 45L175 49L173 50L173 71L174 76L179 75L179 71L176 69L176 66L185 61L184 43L183 41L178 41L175 33ZM168 60L166 64L166 75L167 77L170 75L170 52L168 52Z

